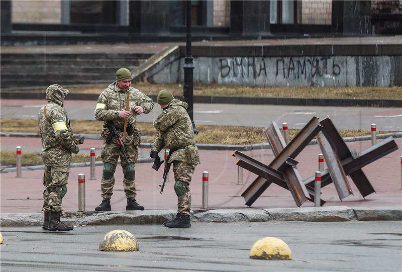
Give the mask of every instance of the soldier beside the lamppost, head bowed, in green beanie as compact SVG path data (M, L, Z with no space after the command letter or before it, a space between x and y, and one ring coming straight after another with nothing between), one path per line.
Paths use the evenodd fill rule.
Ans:
M190 224L191 193L190 182L195 166L199 164L198 149L195 146L194 131L187 114L187 103L174 99L168 90L158 94L162 113L153 122L159 132L155 138L151 158L156 158L162 148L170 149L169 163L173 163L174 192L177 195L177 215L164 223L169 228L188 228Z

